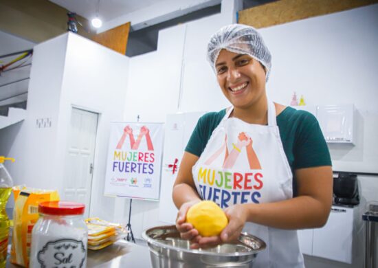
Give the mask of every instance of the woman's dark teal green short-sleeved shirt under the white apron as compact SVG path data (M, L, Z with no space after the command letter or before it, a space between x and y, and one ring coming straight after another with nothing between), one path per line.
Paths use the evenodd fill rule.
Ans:
M185 148L186 152L200 157L212 131L216 129L224 116L225 109L206 113L199 118ZM331 156L318 120L311 113L287 107L277 116L277 125L282 146L293 173L293 194L296 196L297 186L294 170L331 166Z

